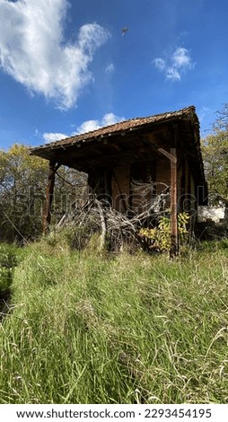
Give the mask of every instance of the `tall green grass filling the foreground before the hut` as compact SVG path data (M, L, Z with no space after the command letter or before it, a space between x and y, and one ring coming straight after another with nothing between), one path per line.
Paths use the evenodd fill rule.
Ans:
M176 262L26 247L0 326L0 403L227 402L227 258L225 241Z

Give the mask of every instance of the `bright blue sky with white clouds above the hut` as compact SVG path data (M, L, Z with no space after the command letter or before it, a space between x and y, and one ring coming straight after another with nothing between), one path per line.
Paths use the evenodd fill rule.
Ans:
M228 101L227 22L226 0L0 0L0 147L189 105L206 136Z

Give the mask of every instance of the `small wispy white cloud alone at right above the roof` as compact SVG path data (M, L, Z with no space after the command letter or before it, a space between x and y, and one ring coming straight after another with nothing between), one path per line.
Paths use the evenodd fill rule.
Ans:
M191 60L189 50L184 47L176 48L171 56L154 58L153 65L161 72L164 72L166 79L172 81L180 81L181 76L195 66Z

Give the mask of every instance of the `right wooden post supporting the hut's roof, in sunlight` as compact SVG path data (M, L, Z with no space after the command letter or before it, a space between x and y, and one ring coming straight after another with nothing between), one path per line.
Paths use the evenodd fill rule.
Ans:
M177 152L171 148L171 259L178 255L178 246Z

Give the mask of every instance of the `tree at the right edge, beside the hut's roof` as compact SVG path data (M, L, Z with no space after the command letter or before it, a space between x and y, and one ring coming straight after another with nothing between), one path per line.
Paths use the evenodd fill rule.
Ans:
M228 210L228 103L217 112L213 133L202 141L206 180L212 204Z

